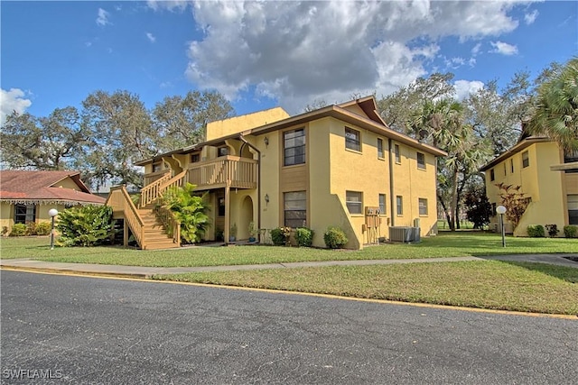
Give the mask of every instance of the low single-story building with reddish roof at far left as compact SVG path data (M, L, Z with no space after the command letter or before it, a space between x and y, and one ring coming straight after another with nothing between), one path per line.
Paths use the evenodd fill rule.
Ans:
M78 171L0 170L0 226L8 234L14 224L50 221L51 208L104 203L90 194Z

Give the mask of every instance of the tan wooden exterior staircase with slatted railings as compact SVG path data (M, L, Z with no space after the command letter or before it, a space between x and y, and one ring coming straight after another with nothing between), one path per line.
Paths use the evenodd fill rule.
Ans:
M155 202L167 188L182 186L185 173L175 177L170 174L143 188L138 208L124 186L110 188L107 206L113 208L113 218L125 221L125 245L128 231L142 250L172 249L181 247L181 224L166 207L157 207Z

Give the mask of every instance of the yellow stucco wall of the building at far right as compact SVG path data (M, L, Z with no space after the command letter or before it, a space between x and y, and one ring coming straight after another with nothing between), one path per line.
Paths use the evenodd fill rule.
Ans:
M522 153L528 151L529 165L522 168ZM514 172L511 172L511 163ZM561 163L559 147L555 142L537 142L526 149L513 154L508 159L497 164L494 169L495 180L490 180L490 170L486 171L486 192L490 203L501 204L499 188L496 184L505 183L521 186L520 191L525 197L530 197L532 203L527 207L517 228L516 236L526 236L528 225L555 224L562 230L567 225L567 215L564 206L565 193L563 188L564 174L550 170L550 166ZM504 175L504 165L506 173ZM494 216L492 223L498 218Z

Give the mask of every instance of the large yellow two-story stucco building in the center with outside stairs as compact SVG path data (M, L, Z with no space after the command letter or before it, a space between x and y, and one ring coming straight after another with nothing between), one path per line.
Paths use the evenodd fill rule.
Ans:
M228 240L233 225L237 239L247 239L253 222L266 229L262 242L275 227L306 226L323 247L323 233L335 225L347 234L346 247L360 249L387 238L389 226L436 233L436 157L444 155L389 129L371 96L296 116L277 107L210 123L207 142L137 162L144 166L140 206L191 182L209 193L207 240L223 233ZM124 199L111 201L122 217L130 204L120 193L116 199Z

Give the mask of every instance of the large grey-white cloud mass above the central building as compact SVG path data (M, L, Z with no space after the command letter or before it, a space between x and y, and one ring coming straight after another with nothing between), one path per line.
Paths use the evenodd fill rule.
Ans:
M527 4L524 2L523 4ZM154 10L191 5L202 37L188 43L185 75L235 99L249 87L291 113L376 92L387 95L427 74L438 42L497 37L517 28L516 1L242 2L149 1ZM513 46L510 46L513 47ZM478 42L471 50L480 53ZM506 49L507 50L507 49ZM450 64L474 65L452 58Z

